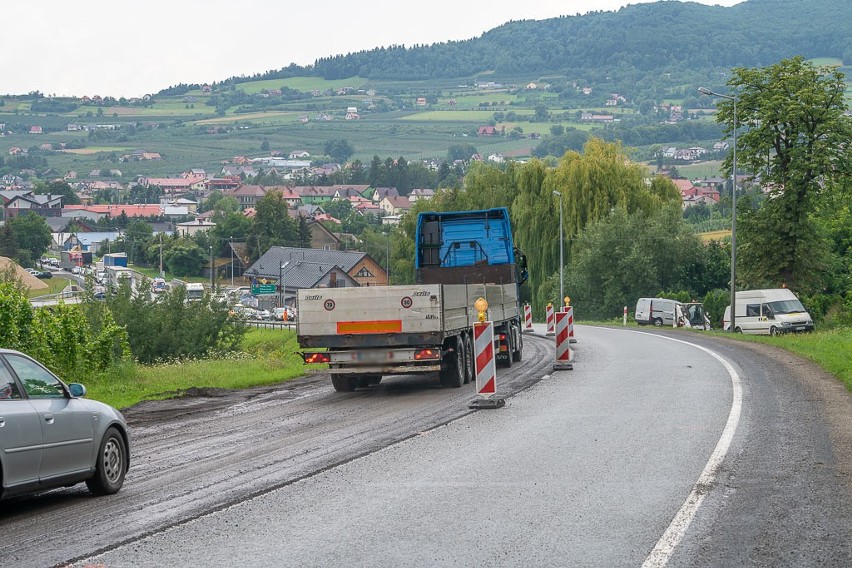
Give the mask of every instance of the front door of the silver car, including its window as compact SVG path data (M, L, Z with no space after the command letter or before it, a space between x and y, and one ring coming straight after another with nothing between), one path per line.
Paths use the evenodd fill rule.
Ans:
M85 401L71 398L53 373L23 355L7 354L35 409L42 430L39 479L89 471L94 465L94 417Z

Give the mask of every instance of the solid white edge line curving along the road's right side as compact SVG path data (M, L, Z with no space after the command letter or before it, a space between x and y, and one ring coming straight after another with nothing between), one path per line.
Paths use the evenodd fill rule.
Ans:
M644 332L629 331L628 333ZM652 334L646 333L645 335ZM660 540L657 541L657 544L656 546L654 546L654 549L651 550L651 552L648 554L648 557L645 558L645 562L642 564L642 568L661 568L662 566L665 566L671 559L675 547L680 544L680 541L686 534L686 530L689 528L690 523L692 523L692 519L695 518L695 513L698 512L698 508L704 501L704 497L707 495L707 492L713 486L713 482L716 479L716 473L719 471L719 467L722 465L722 461L725 459L725 456L728 453L728 448L731 445L731 440L733 440L734 438L734 433L737 431L737 425L740 422L740 411L742 409L743 402L743 391L742 385L740 384L740 376L737 374L737 371L736 369L734 369L733 365L731 365L724 357L722 357L715 351L712 351L700 345L696 345L695 343L690 343L689 341L683 341L682 339L674 339L672 337L665 337L660 335L655 335L655 337L661 337L663 339L668 339L669 341L676 341L678 343L690 345L692 347L695 347L696 349L704 351L705 353L719 361L722 366L724 366L725 369L728 371L728 374L731 376L731 386L733 387L734 396L733 400L731 401L731 412L730 414L728 414L728 422L725 424L725 429L722 431L722 436L719 438L719 442L716 444L716 449L713 450L713 453L710 455L710 460L707 462L707 465L704 466L704 471L701 472L701 476L698 478L698 481L695 482L695 485L692 487L692 491L689 493L689 496L686 498L686 501L672 519L672 522L666 529L666 532L663 533L663 536L661 536Z

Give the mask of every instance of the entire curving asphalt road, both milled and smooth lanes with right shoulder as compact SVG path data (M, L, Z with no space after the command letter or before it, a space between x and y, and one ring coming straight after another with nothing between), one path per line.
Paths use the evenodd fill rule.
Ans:
M834 379L697 333L577 329L573 371L527 336L498 410L434 377L141 405L122 492L4 502L0 564L852 565Z

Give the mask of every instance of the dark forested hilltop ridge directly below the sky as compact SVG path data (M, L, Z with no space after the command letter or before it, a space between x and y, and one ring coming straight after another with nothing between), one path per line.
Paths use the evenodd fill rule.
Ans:
M836 0L748 0L733 7L655 2L617 12L509 22L475 39L381 47L264 77L309 73L326 79L425 80L488 72L621 82L684 69L769 65L794 55L849 61L848 8Z

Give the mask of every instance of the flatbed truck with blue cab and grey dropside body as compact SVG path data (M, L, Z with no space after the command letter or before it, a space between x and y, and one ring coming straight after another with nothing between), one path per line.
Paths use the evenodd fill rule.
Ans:
M478 298L489 305L498 363L521 360L526 261L516 259L508 210L421 213L415 244L416 284L299 290L304 360L328 364L336 390L435 371L444 386L469 382Z

